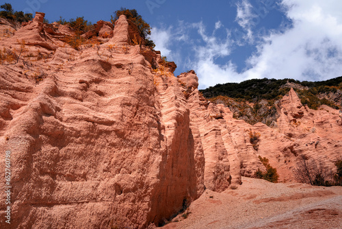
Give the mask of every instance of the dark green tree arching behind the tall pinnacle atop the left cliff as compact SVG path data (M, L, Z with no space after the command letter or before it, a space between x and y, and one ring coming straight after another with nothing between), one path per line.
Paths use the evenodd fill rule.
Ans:
M115 22L119 19L120 15L125 15L127 19L131 20L135 25L137 25L137 29L139 30L140 36L145 39L146 45L150 48L155 47L155 43L153 43L153 40L148 39L148 36L150 35L150 25L142 19L142 16L137 13L137 10L129 10L126 8L121 8L120 10L116 10L114 12L114 16L111 15L111 23L115 25Z

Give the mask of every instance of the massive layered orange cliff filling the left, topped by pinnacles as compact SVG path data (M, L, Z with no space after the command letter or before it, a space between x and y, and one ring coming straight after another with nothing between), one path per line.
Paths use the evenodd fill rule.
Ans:
M29 64L0 66L0 147L12 156L12 228L145 228L186 208L205 184L226 189L223 142L208 163L215 174L205 175L205 132L190 121L172 75L176 65L129 45L124 16L108 43L78 51L61 45L66 35L44 26L42 16L16 32L27 38L21 60ZM4 202L0 209L3 217Z

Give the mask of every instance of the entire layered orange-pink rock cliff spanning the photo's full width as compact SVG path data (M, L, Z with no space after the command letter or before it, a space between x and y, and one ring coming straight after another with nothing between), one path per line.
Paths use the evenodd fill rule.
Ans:
M36 13L0 41L18 53L0 64L10 228L146 228L205 189L222 192L265 170L258 156L289 181L299 155L331 169L341 155L338 110L310 110L291 90L278 104L276 128L250 125L202 97L194 71L174 77L176 64L145 47L125 16L114 28L98 22L84 36L101 43L78 50L65 43L72 29L43 19ZM1 226L5 207L1 201Z

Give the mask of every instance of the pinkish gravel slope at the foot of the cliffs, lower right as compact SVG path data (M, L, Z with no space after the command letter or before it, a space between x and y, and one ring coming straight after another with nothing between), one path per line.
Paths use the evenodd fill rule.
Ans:
M187 217L178 215L162 228L342 228L341 186L242 182L235 190L205 191Z

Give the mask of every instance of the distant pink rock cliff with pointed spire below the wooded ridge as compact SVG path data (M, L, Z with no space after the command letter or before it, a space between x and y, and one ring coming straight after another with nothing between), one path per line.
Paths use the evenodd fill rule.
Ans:
M269 164L278 171L280 182L295 181L293 169L302 155L334 171L342 146L339 110L328 106L311 110L302 106L293 89L282 98L277 109L280 117L276 128L233 119L226 109L226 128L241 162L241 175L253 176L258 169L265 170L258 156L269 159ZM260 134L257 147L250 143L250 133Z

